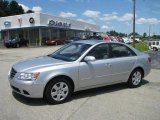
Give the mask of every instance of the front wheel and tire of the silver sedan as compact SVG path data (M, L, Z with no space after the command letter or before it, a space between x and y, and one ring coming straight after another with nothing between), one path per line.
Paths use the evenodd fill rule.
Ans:
M50 104L61 104L69 99L71 93L71 83L65 78L56 78L47 85L44 98Z

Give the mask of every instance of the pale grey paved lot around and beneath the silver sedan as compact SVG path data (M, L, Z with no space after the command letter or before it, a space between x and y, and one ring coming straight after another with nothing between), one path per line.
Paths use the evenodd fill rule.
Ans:
M0 120L160 120L159 69L152 69L141 87L117 84L80 91L59 105L13 93L7 78L11 66L58 47L0 49Z

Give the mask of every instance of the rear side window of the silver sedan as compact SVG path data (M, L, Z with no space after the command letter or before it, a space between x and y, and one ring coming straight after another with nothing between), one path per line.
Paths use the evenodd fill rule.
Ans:
M111 58L136 56L135 52L123 44L111 44Z

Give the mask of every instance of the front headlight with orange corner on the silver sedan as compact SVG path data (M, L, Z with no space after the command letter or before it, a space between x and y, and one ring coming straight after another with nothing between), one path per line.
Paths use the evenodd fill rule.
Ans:
M18 79L20 80L37 80L40 73L20 73Z

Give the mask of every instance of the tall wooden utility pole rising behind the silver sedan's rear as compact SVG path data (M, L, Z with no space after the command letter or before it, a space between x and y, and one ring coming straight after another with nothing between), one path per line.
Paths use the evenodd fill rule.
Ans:
M135 47L135 16L136 16L136 0L133 0L133 47Z

